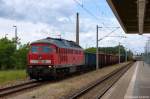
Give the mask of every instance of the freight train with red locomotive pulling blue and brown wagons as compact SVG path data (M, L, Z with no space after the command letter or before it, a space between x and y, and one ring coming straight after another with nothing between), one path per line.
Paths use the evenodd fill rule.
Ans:
M99 54L99 66L116 64L118 56ZM27 73L31 79L61 77L84 69L95 69L96 55L86 53L75 42L45 38L30 44Z

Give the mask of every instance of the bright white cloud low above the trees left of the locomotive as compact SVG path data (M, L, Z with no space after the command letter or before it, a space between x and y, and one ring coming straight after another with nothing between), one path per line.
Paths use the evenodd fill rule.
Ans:
M31 23L31 22L24 22L24 21L14 21L8 19L0 18L0 37L4 37L5 34L8 34L9 38L14 37L14 28L13 25L17 26L18 29L18 36L21 38L21 42L31 42L40 38L44 38L48 36L48 34L42 32L45 31L52 31L54 28L49 27L47 24L43 23Z

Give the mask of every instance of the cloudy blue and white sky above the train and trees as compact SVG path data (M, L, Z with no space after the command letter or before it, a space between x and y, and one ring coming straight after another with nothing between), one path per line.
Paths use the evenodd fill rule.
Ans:
M76 13L80 17L80 45L96 46L96 25L99 25L99 46L117 46L119 42L134 53L144 51L147 36L124 33L106 0L0 0L0 38L12 39L14 25L22 44L46 37L75 41ZM109 28L106 28L109 27ZM116 29L116 27L120 27ZM149 36L149 35L148 35Z

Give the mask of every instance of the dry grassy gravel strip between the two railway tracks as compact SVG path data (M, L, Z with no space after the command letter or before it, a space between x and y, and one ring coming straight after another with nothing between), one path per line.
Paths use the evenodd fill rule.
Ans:
M123 63L126 64L126 63ZM62 81L58 81L56 83L51 83L45 86L41 86L36 90L32 90L15 97L11 97L10 99L59 99L62 96L73 92L86 84L95 81L96 79L107 75L113 70L122 67L123 64L109 66L103 69L99 69L96 71L92 71L89 73L85 73L79 76L75 76L72 78L67 78Z

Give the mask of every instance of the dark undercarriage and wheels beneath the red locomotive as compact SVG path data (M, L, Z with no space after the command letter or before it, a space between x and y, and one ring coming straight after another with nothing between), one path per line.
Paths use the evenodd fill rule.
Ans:
M72 66L64 68L54 68L49 66L28 66L27 72L30 79L43 80L52 78L63 78L67 74L83 71L87 66Z

